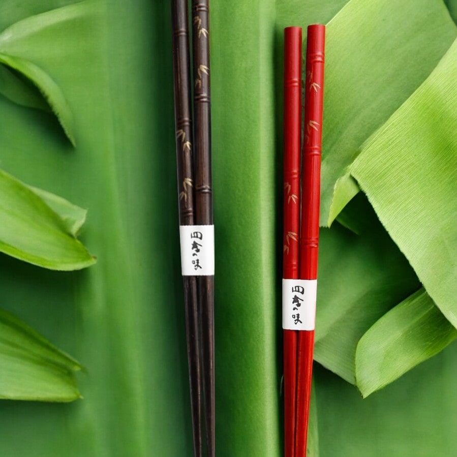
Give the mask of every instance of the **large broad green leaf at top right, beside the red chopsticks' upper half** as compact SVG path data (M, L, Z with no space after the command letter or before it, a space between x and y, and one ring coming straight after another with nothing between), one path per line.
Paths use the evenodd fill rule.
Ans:
M321 225L336 216L329 220L334 184L359 146L429 76L456 36L441 0L352 0L328 23Z

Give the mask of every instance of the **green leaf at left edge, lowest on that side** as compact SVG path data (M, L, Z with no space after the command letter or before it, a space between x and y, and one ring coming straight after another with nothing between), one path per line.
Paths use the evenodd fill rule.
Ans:
M71 402L81 365L22 321L0 310L0 398Z

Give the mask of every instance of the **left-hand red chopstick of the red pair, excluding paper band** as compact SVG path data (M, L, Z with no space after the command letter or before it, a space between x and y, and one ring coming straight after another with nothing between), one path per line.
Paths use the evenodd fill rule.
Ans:
M300 233L301 27L284 29L283 277L298 279ZM294 457L297 332L284 330L285 456Z

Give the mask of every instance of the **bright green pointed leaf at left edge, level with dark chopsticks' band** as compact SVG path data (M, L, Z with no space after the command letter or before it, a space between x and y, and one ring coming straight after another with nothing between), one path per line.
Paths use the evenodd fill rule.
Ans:
M61 219L35 191L0 171L0 251L20 260L55 270L75 270L95 263L75 237L79 208L47 195L51 206L66 211Z

